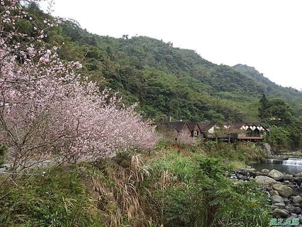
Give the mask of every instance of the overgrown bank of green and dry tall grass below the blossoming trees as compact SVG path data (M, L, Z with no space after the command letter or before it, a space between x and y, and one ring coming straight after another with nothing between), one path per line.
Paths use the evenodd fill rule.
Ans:
M254 182L227 179L232 166L224 164L258 157L257 149L162 141L152 152L18 178L0 188L0 225L267 226L266 195Z

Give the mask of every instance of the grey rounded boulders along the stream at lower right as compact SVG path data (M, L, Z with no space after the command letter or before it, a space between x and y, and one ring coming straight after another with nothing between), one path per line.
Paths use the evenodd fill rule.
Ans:
M257 172L254 168L242 168L229 177L239 182L255 180L261 183L259 189L268 192L274 217L298 218L302 223L302 173L284 175L275 169Z

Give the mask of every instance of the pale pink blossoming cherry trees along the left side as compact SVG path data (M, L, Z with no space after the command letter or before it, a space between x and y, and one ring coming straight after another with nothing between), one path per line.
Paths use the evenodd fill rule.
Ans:
M119 107L116 95L110 96L109 90L100 93L95 83L77 73L81 63L64 63L58 58L60 47L36 47L37 41L43 44L45 29L53 26L48 20L44 21L46 27L34 27L35 37L21 34L15 27L8 31L6 23L14 25L16 20L32 18L19 1L0 1L4 8L0 25L0 139L9 146L14 164L25 166L41 158L99 158L156 144L155 133L134 111L136 104ZM20 37L22 42L18 42Z

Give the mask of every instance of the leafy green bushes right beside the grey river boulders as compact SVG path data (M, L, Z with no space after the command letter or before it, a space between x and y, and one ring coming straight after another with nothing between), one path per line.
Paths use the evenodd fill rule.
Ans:
M206 204L206 226L265 226L269 221L265 192L255 182L234 184L225 178L230 167L215 158L200 160L199 186ZM199 190L198 190L199 189ZM240 207L240 209L239 209ZM214 214L209 211L215 210ZM219 224L218 224L219 223Z

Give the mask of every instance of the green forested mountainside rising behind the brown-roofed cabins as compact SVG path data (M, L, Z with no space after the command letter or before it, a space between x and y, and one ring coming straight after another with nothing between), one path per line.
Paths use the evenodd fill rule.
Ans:
M29 11L42 18L35 4ZM27 21L21 27L26 32L33 26ZM213 64L194 50L173 47L172 42L95 35L66 20L50 30L45 41L62 45L59 54L65 60L83 59L81 74L102 82L101 88L119 92L127 104L139 102L145 118L256 121L263 93L282 97L302 112L299 91L280 87L251 67Z

